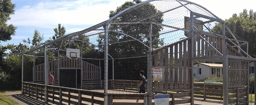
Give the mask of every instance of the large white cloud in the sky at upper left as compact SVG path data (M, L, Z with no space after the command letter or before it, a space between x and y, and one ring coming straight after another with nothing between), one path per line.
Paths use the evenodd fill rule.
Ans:
M109 11L126 0L42 1L24 5L15 11L9 23L14 26L55 28L58 23L68 25L98 24L108 18Z

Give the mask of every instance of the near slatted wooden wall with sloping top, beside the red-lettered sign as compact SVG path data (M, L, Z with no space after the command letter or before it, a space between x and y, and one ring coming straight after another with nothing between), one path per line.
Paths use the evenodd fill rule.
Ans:
M192 88L192 80L189 79L191 78L192 67L191 62L187 62L191 59L187 56L190 54L190 52L187 52L190 50L191 45L188 44L190 41L191 39L176 44L174 43L172 45L168 45L168 48L154 52L153 67L163 67L164 75L164 81L154 81L153 86L155 91L190 90ZM174 56L172 53L173 48ZM170 82L168 82L168 80L170 80Z

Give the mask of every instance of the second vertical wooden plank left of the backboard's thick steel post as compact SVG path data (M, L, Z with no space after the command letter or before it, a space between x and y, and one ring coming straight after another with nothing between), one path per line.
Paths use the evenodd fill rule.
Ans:
M183 42L183 67L187 67L187 41ZM183 69L183 88L187 88L187 69Z

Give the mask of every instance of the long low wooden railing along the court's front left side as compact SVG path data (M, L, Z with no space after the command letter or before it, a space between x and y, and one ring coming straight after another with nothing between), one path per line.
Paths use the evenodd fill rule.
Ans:
M45 92L45 89L47 91ZM50 90L48 90L50 89ZM51 93L51 94L49 94ZM86 91L82 89L66 88L51 85L42 85L30 82L23 82L23 94L35 97L37 100L47 100L53 104L75 104L81 105L83 102L103 105L104 94L94 91ZM46 97L45 97L46 94ZM82 97L83 95L83 97ZM87 96L87 97L86 97ZM96 99L102 98L102 100Z

